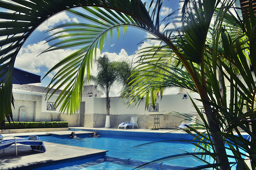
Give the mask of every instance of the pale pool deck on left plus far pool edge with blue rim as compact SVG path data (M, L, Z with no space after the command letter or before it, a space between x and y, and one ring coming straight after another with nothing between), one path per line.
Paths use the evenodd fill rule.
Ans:
M26 133L12 133L2 134L3 136L29 136L29 135L69 135L72 131L75 131L77 136L79 135L91 135L97 132L99 135L120 135L120 136L136 136L136 137L152 137L152 138L171 138L179 135L186 134L183 130L151 130L151 129L117 129L117 128L83 128L83 127L70 127L69 131L54 131L54 132L26 132ZM246 135L244 133L244 135ZM181 135L182 136L182 135ZM8 138L7 138L8 139ZM11 138L10 138L11 139ZM181 138L180 138L181 139ZM96 155L104 155L107 150L98 150L82 147L73 147L67 145L60 145L57 143L44 142L46 152L31 150L28 145L17 144L17 153L15 154L15 147L11 147L0 151L0 170L28 170L37 167L44 167L47 165L58 164L62 162L69 162L72 160L84 159L87 157L93 157Z

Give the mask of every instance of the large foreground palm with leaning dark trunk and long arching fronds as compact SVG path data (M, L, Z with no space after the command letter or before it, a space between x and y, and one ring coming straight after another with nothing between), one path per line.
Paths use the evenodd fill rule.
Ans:
M96 24L68 23L52 29L55 30L58 28L64 28L62 31L57 33L66 32L66 34L57 35L48 41L63 37L71 38L60 40L58 43L55 43L52 47L44 52L71 46L79 46L81 44L85 45L83 48L67 56L67 58L62 60L49 71L51 72L57 68L62 68L60 69L61 71L59 71L53 78L51 83L53 83L55 80L57 81L53 84L52 88L55 87L56 89L59 89L65 84L62 83L57 85L59 82L70 81L69 85L65 87L65 90L63 90L63 93L57 99L58 105L61 101L65 101L61 106L61 111L66 110L67 112L74 113L78 110L81 102L82 84L84 81L85 71L87 71L88 75L90 74L94 50L98 46L100 50L102 50L107 32L110 32L112 37L113 29L116 29L117 33L119 34L119 27L123 28L123 32L125 32L127 26L143 29L155 35L156 38L154 39L159 40L161 44L158 47L148 48L147 51L151 53L141 53L141 58L143 60L147 60L147 58L151 60L151 62L147 60L149 65L146 65L145 62L143 63L145 71L144 76L146 76L146 70L148 67L151 67L151 72L148 73L152 73L152 71L155 73L151 74L151 77L153 77L152 80L154 81L150 82L152 86L146 86L145 83L143 84L143 82L138 83L131 81L129 83L131 86L140 86L142 89L137 88L138 90L130 90L130 94L133 94L134 96L135 94L144 93L147 99L152 98L152 101L154 101L154 98L156 97L155 94L157 94L159 91L157 89L161 89L162 87L169 85L186 87L198 92L201 98L200 101L202 101L204 107L204 114L207 115L208 118L208 120L203 123L208 130L207 135L211 137L211 146L215 152L215 155L212 156L216 158L221 170L226 170L229 168L229 162L227 156L225 156L226 151L224 147L224 141L226 141L226 138L223 138L223 136L228 137L227 139L232 139L232 137L234 137L232 134L232 129L237 129L237 126L244 128L244 124L247 128L249 120L246 119L245 121L246 116L250 115L252 119L254 118L254 112L243 114L243 112L241 112L242 107L234 105L234 103L242 103L238 102L236 96L239 94L241 96L241 100L245 100L249 105L253 106L256 87L250 70L248 71L246 67L242 67L242 64L245 63L243 61L243 50L247 48L245 46L249 40L254 41L253 35L255 33L251 30L254 30L252 28L256 22L250 23L248 18L245 20L247 27L245 34L247 37L249 37L247 39L245 38L246 35L231 39L228 32L222 29L223 21L239 23L239 21L233 17L231 13L229 13L229 9L233 5L234 1L223 1L221 8L217 8L217 6L221 3L220 1L187 0L184 2L182 7L182 26L175 29L166 29L165 32L160 31L159 11L162 5L161 0L156 1L155 7L152 7L152 1L148 11L140 0L94 0L93 2L34 0L33 3L30 1L20 1L19 3L23 6L18 6L17 3L10 4L9 2L1 2L1 4L3 4L1 6L5 7L6 9L17 11L15 14L5 15L5 13L0 13L1 19L13 19L13 21L1 21L1 26L6 28L6 30L1 31L0 36L10 36L4 41L1 41L1 46L9 46L5 49L1 49L0 56L4 55L4 57L0 58L0 60L1 63L8 61L6 62L6 65L9 65L10 68L5 77L6 83L2 85L0 89L1 101L6 101L5 103L0 103L0 107L3 108L0 110L1 121L4 120L4 114L8 115L11 108L11 68L13 68L15 57L20 47L24 43L24 40L26 40L31 32L45 19L56 14L57 12L68 10L70 13L87 18ZM83 6L85 11L93 14L93 16L96 17L92 18L88 15L71 10L71 8L78 6ZM101 8L104 8L104 10ZM115 12L113 12L113 10ZM168 17L171 16L172 14L170 14ZM250 16L253 16L253 11L251 12ZM213 17L215 18L213 29L214 32L212 36L213 39L211 40L211 44L209 44L207 42L207 36L209 33L208 31L210 28L211 19ZM168 20L168 18L166 19ZM16 22L17 20L24 22ZM171 22L169 24L171 24ZM234 26L234 24L231 24L230 28L232 28L231 26ZM65 29L66 27L69 28ZM85 33L86 31L89 31L90 33L87 34ZM175 36L172 34L174 31L177 31ZM22 35L18 37L12 36L14 34ZM81 35L83 35L82 38ZM220 38L222 38L223 43L221 46L219 46ZM254 45L255 43L250 44L251 50L255 49L253 47ZM252 57L252 54L254 53L253 51L250 52ZM179 63L181 63L185 69L170 66L168 63L170 57L176 57L179 60ZM219 58L222 57L228 61L228 64L225 64L222 62L222 60L219 60ZM253 58L255 57L252 57L252 59ZM161 61L162 63L160 63ZM217 61L219 62L219 65L217 65ZM252 65L256 65L256 61L250 61ZM158 63L161 65L158 65ZM195 67L194 65L197 66ZM240 83L241 81L234 76L234 70L231 68L232 66L236 66L239 71L243 73L242 78L245 80L247 87ZM228 71L228 74L222 70L222 67ZM0 66L0 71L3 68L3 66ZM223 95L223 99L219 97L219 86L217 85L218 80L216 80L217 68L221 70L222 76L227 77L231 83L232 92L230 95L230 106L227 106L225 101L226 94ZM246 74L244 74L244 72ZM228 75L230 75L230 78ZM143 79L144 78L141 80ZM233 80L237 84L234 84ZM240 88L238 88L238 85ZM79 96L79 98L77 98L77 96ZM132 99L137 98L132 97ZM138 98L138 100L139 99L140 98ZM212 108L213 106L214 109ZM231 119L232 116L233 119ZM228 124L225 124L226 126L223 127L223 123L225 123L225 120L227 119ZM256 124L253 122L250 123L252 123L253 133L250 133L248 128L245 130L246 132L250 133L251 136L253 136L254 145L254 141L256 141ZM223 129L225 129L225 131L223 131ZM246 143L246 141L244 141L244 143ZM251 143L249 144L253 147ZM239 145L242 144L239 143ZM250 153L250 155L255 154L255 150L250 151L250 149L246 149L246 151ZM252 166L254 166L255 163L253 162L253 156L250 157L250 160L252 160ZM238 162L239 161L240 160L238 160ZM212 166L218 167L218 164Z

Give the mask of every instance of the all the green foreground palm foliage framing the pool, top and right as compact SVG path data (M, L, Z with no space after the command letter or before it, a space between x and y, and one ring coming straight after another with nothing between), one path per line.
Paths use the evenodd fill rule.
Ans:
M68 23L49 30L63 28L62 31L56 32L47 40L47 42L57 39L59 41L44 51L84 45L47 73L49 74L55 69L60 70L51 82L53 86L49 85L51 88L59 89L66 82L70 82L56 101L57 105L63 101L61 112L74 113L79 109L85 72L88 76L90 75L93 58L96 58L96 49L97 47L100 50L103 49L107 32L110 32L112 40L113 29L116 29L118 35L119 27L123 28L123 33L127 26L144 29L153 34L156 38L150 39L158 40L160 45L138 51L137 62L139 65L133 70L130 79L126 81L128 86L123 92L130 104L138 103L142 97L146 98L145 107L148 106L150 100L154 104L157 96L162 96L164 88L171 86L198 92L200 95L198 100L203 104L203 111L195 105L202 119L202 122L197 122L197 124L201 124L205 132L189 129L197 134L195 138L202 139L201 143L196 146L203 152L187 154L210 155L216 164L205 162L205 166L197 167L197 169L213 167L226 170L230 167L229 164L234 164L240 169L248 170L250 168L244 164L245 159L242 158L243 154L240 149L248 153L249 156L246 159L251 161L251 169L255 169L254 103L256 84L255 74L252 74L245 60L246 57L252 66L256 65L256 20L252 6L249 8L250 17L245 15L245 20L242 23L240 19L237 19L238 15L234 16L229 11L234 4L232 0L185 0L181 11L181 27L166 29L162 33L159 31L159 13L163 1L157 0L156 3L152 1L148 10L140 0L95 0L90 2L92 1L65 1L64 3L62 1L35 0L33 3L17 2L17 4L22 3L27 7L17 7L16 3L0 2L1 6L7 6L6 9L17 12L14 14L0 13L0 17L3 19L1 26L6 27L1 31L0 36L10 36L0 42L1 47L10 45L0 50L0 56L3 56L0 58L0 63L8 61L6 65L9 65L10 68L5 77L6 83L1 84L0 89L0 99L3 101L0 102L0 121L4 120L4 115L9 116L11 112L12 68L24 40L39 24L56 12L84 5L86 6L84 10L96 17L90 17L70 9L68 11L95 24ZM52 8L52 6L56 8ZM99 7L103 7L104 10ZM171 17L172 14L168 15L166 20ZM14 21L5 21L10 18ZM214 19L213 26L210 26L211 19ZM167 23L166 28L171 23ZM12 36L22 33L22 36ZM58 35L59 33L64 34ZM63 37L68 38L60 39ZM11 53L11 51L15 52ZM250 53L251 58L246 52ZM177 61L174 62L175 65L172 60ZM3 68L5 67L1 65L0 71ZM238 78L238 74L240 74L240 78ZM230 83L230 94L226 92L225 82L222 81L224 77ZM250 126L252 131L250 131ZM242 128L250 134L252 141L244 140L238 128ZM234 135L233 131L236 131L239 136ZM191 134L190 131L187 133ZM226 155L224 142L228 143L236 162L228 161L227 158L232 156ZM173 157L175 155L168 158ZM201 160L200 157L198 158Z

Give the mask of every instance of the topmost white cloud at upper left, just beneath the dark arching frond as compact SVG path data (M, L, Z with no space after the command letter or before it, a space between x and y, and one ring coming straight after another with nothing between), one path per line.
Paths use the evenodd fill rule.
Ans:
M70 18L66 12L61 12L48 20L44 21L38 28L37 31L45 31L55 26L56 24L62 24L66 22L79 22L77 18Z

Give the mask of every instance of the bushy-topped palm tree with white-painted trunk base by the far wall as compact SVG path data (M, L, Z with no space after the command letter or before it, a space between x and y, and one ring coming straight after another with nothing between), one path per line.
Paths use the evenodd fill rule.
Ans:
M110 128L110 97L109 92L115 84L125 85L126 80L131 74L131 66L128 61L110 62L106 54L98 57L95 61L97 65L97 74L85 78L84 84L90 82L96 85L96 88L105 92L106 95L106 123L105 128Z

